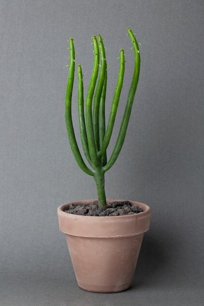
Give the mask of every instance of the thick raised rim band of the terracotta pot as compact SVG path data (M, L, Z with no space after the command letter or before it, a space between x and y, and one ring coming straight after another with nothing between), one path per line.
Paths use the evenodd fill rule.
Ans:
M129 200L132 205L137 205L144 211L134 215L96 217L64 212L71 203L86 204L94 200L96 199L72 201L60 205L57 209L60 230L72 236L116 238L139 235L149 229L151 209L148 205L137 201ZM125 201L125 199L107 199L108 203L113 201Z

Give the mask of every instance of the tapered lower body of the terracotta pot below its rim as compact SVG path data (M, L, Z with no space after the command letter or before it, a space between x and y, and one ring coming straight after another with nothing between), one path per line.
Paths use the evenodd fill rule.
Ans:
M78 285L84 290L101 293L128 289L133 281L142 238L143 234L112 239L66 234Z

